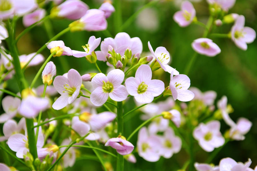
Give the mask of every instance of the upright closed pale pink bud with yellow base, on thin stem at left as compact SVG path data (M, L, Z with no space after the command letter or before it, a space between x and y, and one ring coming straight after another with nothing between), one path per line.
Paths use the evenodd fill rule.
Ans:
M53 77L56 75L55 64L50 61L45 65L45 68L42 72L43 83L47 83L48 86L53 82Z

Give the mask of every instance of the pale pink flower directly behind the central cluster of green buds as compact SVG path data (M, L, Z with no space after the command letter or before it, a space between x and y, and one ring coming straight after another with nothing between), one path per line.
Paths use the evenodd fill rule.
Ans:
M124 55L125 50L130 48L132 55L136 53L142 53L143 45L142 41L138 37L130 38L127 33L118 33L115 38L105 38L101 43L101 51L96 51L97 59L100 61L107 61L108 51L114 51L116 53Z

